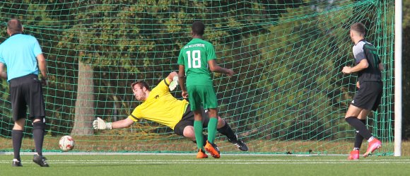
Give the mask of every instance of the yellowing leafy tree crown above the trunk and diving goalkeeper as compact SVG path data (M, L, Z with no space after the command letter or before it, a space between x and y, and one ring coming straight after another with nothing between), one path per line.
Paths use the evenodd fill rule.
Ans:
M70 60L78 59L78 52L83 52L84 63L93 66L95 94L98 95L97 115L112 115L113 112L110 112L112 109L107 108L113 107L112 103L117 103L116 107L125 110L119 114L129 114L127 110L134 106L119 103L129 102L131 99L124 96L127 94L125 88L130 84L127 81L133 78L145 79L154 85L163 76L175 70L176 57L180 48L191 39L189 28L194 20L204 20L207 24L206 39L220 49L227 42L242 40L247 36L232 35L233 32L250 34L264 30L247 24L256 21L264 23L267 18L257 20L238 16L238 13L264 13L277 16L277 14L269 14L270 11L266 13L264 10L266 7L263 6L256 6L256 10L252 9L252 11L243 10L247 4L225 4L225 9L219 8L224 4L212 4L207 1L128 1L127 3L87 1L86 4L83 2L75 4L76 15L71 16L69 27L62 33L58 45L69 52L67 57L73 57ZM181 8L182 6L193 8ZM221 18L223 16L228 18ZM213 23L208 23L208 20L212 20ZM235 30L227 30L229 28ZM181 36L181 34L185 35ZM223 50L233 49L228 46ZM233 64L231 58L225 61ZM230 90L227 86L221 86L221 89ZM231 94L225 93L225 96L229 95Z

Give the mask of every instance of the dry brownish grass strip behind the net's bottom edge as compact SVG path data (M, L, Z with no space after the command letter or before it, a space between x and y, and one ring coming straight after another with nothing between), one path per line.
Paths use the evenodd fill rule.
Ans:
M158 137L158 136L157 136ZM107 136L74 136L76 146L74 152L171 152L194 153L196 144L184 138L172 139L137 139L129 136L117 136L108 139ZM59 151L59 138L46 137L45 151ZM216 140L223 153L242 153L232 143L225 139ZM353 141L246 141L250 150L247 153L312 153L312 154L348 154L353 147ZM0 151L13 151L10 138L0 138ZM363 141L361 153L365 152L366 142ZM23 140L23 151L32 151L33 139ZM390 155L394 151L394 143L383 143L377 150L378 155ZM402 156L410 156L410 141L402 141Z

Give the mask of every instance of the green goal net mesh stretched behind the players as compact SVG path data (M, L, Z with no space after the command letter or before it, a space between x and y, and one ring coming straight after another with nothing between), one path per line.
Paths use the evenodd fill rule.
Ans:
M156 86L177 71L177 56L194 20L206 24L205 39L218 63L235 76L213 74L219 112L251 153L348 153L355 130L344 121L356 91L351 23L365 24L385 64L382 104L368 128L394 145L394 1L2 1L0 42L6 21L19 18L25 34L39 40L47 57L44 88L47 135L44 150L59 151L61 136L76 139L74 151L192 152L196 144L156 122L97 131L96 117L125 119L141 102L130 84ZM172 92L181 99L180 89ZM0 84L1 151L12 151L11 103ZM27 120L22 150L34 148ZM223 152L239 152L217 135ZM362 148L366 144L363 142Z

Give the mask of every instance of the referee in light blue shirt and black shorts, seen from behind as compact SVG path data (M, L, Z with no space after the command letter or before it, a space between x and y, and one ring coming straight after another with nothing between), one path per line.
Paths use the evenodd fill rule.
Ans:
M23 25L18 19L8 20L8 39L0 44L0 76L6 78L10 88L11 109L14 127L11 132L14 159L12 166L21 164L20 149L23 129L27 116L33 122L35 154L33 162L48 167L42 156L42 143L45 134L45 102L42 86L47 83L47 66L37 39L23 34ZM4 71L4 68L7 71ZM39 69L41 78L39 79Z

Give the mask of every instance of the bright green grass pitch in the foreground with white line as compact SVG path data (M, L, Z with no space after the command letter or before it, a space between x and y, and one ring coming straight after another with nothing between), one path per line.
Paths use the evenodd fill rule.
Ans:
M410 157L221 155L197 159L194 154L47 155L49 168L22 156L23 167L11 167L11 155L0 155L0 175L409 175Z

